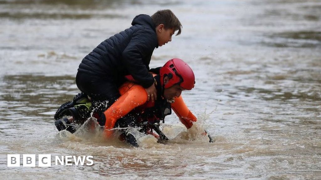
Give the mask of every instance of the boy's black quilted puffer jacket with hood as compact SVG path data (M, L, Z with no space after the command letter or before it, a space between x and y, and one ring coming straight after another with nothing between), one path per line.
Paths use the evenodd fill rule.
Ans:
M152 86L148 73L152 53L158 47L155 24L149 15L140 14L132 27L115 34L85 56L78 71L122 83L131 74L144 88Z

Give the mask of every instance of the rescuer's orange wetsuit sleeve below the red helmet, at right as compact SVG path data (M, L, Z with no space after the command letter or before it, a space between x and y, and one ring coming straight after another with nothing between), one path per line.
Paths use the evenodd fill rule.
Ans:
M186 126L187 129L193 126L197 118L194 114L187 108L182 96L175 99L175 102L171 104L172 109L178 116L179 120Z

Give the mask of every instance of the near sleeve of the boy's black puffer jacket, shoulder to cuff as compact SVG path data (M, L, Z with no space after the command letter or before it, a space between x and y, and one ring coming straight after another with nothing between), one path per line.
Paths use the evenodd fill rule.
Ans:
M122 62L125 68L144 88L150 87L154 83L153 76L148 72L150 60L143 62L144 57L151 56L156 47L155 37L153 36L155 35L147 30L138 30L133 34L122 53Z

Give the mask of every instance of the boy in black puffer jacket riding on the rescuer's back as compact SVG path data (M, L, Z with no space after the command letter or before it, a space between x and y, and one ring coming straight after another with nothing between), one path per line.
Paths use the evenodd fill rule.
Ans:
M157 99L155 79L148 72L155 48L171 41L182 25L170 10L157 11L152 16L140 14L132 27L106 39L79 65L76 84L80 91L91 97L99 114L120 96L118 87L132 75L145 88L148 101Z

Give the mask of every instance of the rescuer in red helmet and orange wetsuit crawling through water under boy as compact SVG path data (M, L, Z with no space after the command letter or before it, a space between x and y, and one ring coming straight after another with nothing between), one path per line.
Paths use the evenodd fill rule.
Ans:
M171 109L174 110L187 129L193 126L197 119L180 96L182 91L191 90L194 87L195 76L193 70L187 63L175 58L167 61L163 67L154 69L153 76L159 97L154 102L147 101L147 93L144 88L131 82L134 79L130 76L127 77L129 81L119 87L119 93L121 94L119 99L104 112L101 118L98 118L98 123L105 128L106 138L113 134L115 127L120 127L121 134L119 138L133 146L138 146L135 137L128 133L128 127L140 127L140 131L145 134L153 134L161 141L168 140L160 131L159 125L160 121L164 123L165 116L171 114ZM85 106L85 104L80 103L78 107L80 106ZM83 120L90 116L88 113L79 111L80 108L78 107L70 108L67 113L57 111L57 118L61 118L64 115L72 116L69 119L56 120L55 124L59 131L66 129L73 133L76 129L73 128L72 122L82 124ZM128 114L130 116L126 116ZM152 133L153 130L158 135ZM203 135L206 134L207 132L204 131ZM210 142L213 142L209 135L208 137Z

